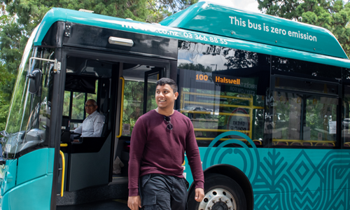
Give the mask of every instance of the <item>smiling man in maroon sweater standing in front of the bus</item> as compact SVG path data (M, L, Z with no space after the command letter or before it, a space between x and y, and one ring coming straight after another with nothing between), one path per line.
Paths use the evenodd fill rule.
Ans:
M132 130L127 201L132 210L186 209L188 183L181 167L185 152L195 182L195 200L204 198L204 175L193 125L174 111L178 96L174 80L158 80L157 109L141 116Z

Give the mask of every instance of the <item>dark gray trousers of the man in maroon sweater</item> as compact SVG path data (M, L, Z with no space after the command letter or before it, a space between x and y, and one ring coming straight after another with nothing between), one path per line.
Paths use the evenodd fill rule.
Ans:
M186 210L186 179L162 174L141 176L139 193L143 210Z

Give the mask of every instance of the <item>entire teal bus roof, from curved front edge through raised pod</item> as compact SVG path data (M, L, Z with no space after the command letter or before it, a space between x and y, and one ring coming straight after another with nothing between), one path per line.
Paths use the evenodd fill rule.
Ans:
M196 8L197 12L201 15L195 15ZM228 19L228 29L223 27L220 29L219 27L220 25L223 25L224 20L221 21L220 25L218 22L210 23L210 20L214 21L215 19L214 13L216 13L216 16L218 17L218 22L220 22L220 19L223 18L223 14L230 14L230 16L226 17L226 19ZM239 14L241 16L239 16ZM208 18L204 15L208 15ZM242 19L242 25L244 17L248 18L249 22L255 21L254 23L260 23L260 27L263 27L264 23L265 26L269 26L269 29L271 26L276 27L276 25L280 25L281 29L286 30L287 34L272 34L271 32L269 33L263 31L263 29L259 30L249 28L248 20L246 20L246 27L241 27L241 30L246 30L246 34L244 34L243 31L234 31L233 28L236 27L235 22L237 21L237 17ZM258 20L260 22L258 22ZM34 38L34 45L44 45L42 43L43 38L47 34L50 27L57 21L74 22L76 24L89 25L92 27L104 27L139 34L181 39L184 41L195 41L198 43L219 45L239 50L259 52L267 55L276 55L280 57L301 59L309 62L350 68L350 60L346 57L344 50L342 50L342 47L339 45L337 39L326 29L305 25L300 22L284 20L282 18L275 18L269 15L243 12L241 10L219 6L213 3L196 3L193 6L190 6L188 9L163 20L161 25L125 20L123 18L114 18L93 13L84 13L76 10L52 8L48 11L48 13L46 13L38 27L38 32ZM203 24L207 23L207 27L203 27L199 21L203 21ZM231 22L233 23L232 25L230 24ZM290 26L282 28L283 25L287 25L287 22ZM201 25L202 27L200 27ZM295 37L287 38L288 31L295 29L299 29L299 31L307 30L306 33L316 36L317 41L302 40L301 38ZM74 33L74 31L72 31L72 33ZM259 33L262 35L259 36ZM283 33L283 31L281 31L281 33ZM265 34L269 35L267 36ZM268 42L269 36L274 37L273 40L276 39L275 41L277 41L277 43L274 41ZM260 39L258 39L259 37ZM323 41L325 38L328 38L328 40ZM295 41L295 39L300 42ZM309 45L301 44L304 41L309 42ZM312 50L308 50L309 48L307 46L311 47Z

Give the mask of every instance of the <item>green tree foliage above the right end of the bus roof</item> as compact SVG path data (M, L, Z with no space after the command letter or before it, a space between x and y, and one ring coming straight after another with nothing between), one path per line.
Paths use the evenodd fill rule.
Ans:
M257 0L262 13L324 27L350 56L350 2L342 0Z

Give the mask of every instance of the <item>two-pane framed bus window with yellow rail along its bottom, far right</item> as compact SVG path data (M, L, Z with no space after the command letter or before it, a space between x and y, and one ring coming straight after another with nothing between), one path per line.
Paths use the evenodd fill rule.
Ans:
M337 98L274 92L272 142L277 146L335 146Z

